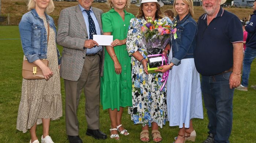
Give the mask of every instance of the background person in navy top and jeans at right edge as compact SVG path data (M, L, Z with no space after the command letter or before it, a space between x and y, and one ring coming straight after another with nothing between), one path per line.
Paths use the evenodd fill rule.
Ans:
M244 51L242 83L236 88L237 90L242 91L248 90L251 64L256 57L256 0L253 2L252 8L253 14L251 15L251 20L247 25L245 25L245 30L248 32L248 36L246 39L246 49ZM256 89L256 85L252 85L251 87Z

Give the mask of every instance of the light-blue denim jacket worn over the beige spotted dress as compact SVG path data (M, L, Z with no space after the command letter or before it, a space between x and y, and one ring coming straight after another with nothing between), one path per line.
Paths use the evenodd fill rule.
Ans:
M48 16L46 13L45 16L49 22L50 28L52 28L56 34L56 27L52 17ZM29 62L47 58L47 31L44 26L44 21L39 18L35 9L31 9L31 11L22 16L19 23L19 32L22 49ZM60 57L59 50L56 50L58 57Z

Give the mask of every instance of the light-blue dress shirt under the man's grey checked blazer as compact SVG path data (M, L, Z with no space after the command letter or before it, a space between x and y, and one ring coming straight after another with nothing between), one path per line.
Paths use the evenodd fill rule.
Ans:
M89 32L89 20L88 20L88 15L87 13L84 11L84 8L79 4L79 7L82 11L82 14L83 14L83 19L84 19L84 22L85 22L85 25L86 25L86 29L87 29L87 33L88 33L88 37L90 38L90 32ZM91 18L93 18L93 22L95 24L95 28L96 28L96 32L97 32L97 35L101 35L101 27L99 27L99 23L98 23L98 20L96 18L96 16L94 15L93 13L93 10L91 9L90 7L90 15L91 15ZM95 35L95 34L94 34ZM88 38L88 39L89 39ZM99 51L102 51L102 46L96 46L96 47L93 47L91 49L87 49L86 50L86 54L96 54L98 53Z

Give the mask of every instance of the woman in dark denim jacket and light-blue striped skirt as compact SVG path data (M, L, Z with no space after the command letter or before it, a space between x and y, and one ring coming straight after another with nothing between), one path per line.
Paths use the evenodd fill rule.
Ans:
M172 69L167 80L168 120L170 126L180 128L175 143L183 143L185 140L195 141L192 118L203 119L200 77L193 57L197 25L192 18L192 0L174 0L173 11L177 15L177 39L172 38L170 64L159 67L163 68L159 71Z

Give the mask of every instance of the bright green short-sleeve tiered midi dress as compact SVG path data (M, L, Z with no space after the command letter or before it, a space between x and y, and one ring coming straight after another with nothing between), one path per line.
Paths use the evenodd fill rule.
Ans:
M103 32L111 32L114 39L123 40L127 36L130 20L134 15L124 10L124 20L112 8L102 14ZM132 79L131 57L129 57L126 45L114 47L117 58L121 64L121 74L116 74L114 62L105 49L104 74L101 77L101 104L103 109L114 110L120 107L132 106Z

